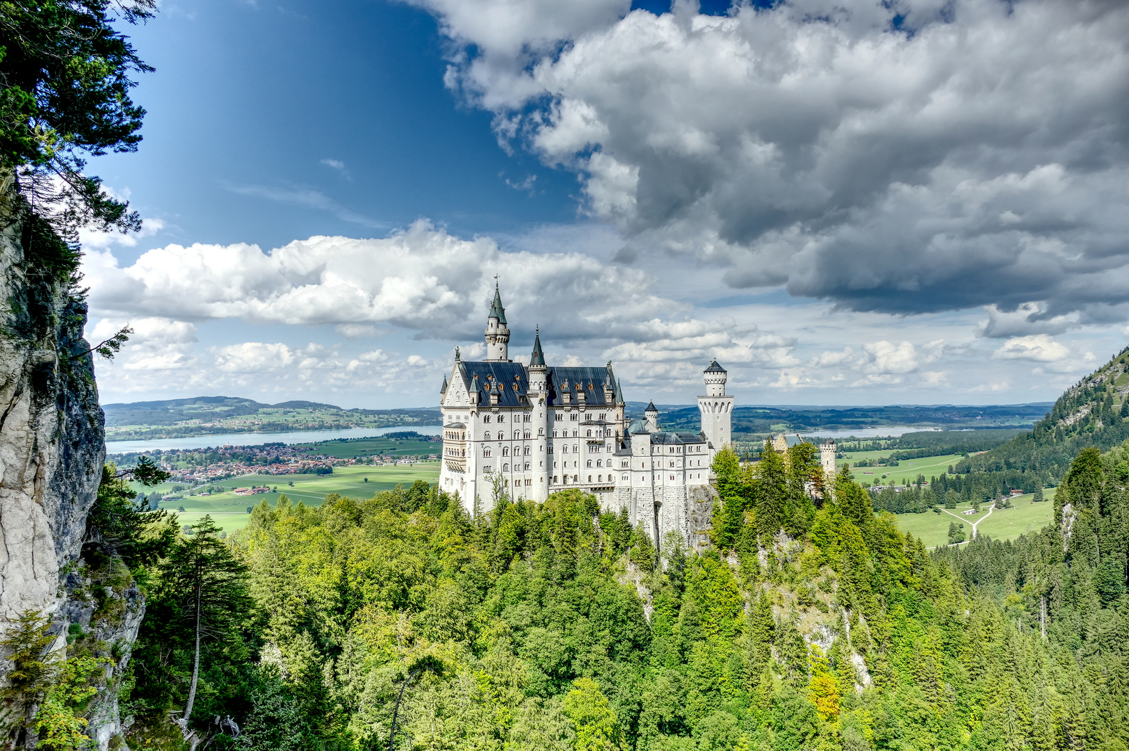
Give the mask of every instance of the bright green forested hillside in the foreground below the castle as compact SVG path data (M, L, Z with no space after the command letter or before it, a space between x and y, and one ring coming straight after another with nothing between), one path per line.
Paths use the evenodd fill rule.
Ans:
M399 749L1120 750L1129 464L1095 457L1068 539L933 554L847 473L811 498L805 444L719 456L700 556L579 491L260 504L134 569L126 740L186 748L167 718L193 704L212 748L387 748L408 679Z

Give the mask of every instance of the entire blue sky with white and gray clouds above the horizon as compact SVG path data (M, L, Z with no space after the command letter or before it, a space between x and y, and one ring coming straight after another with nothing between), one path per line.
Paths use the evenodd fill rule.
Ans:
M1127 11L889 5L163 3L103 401L431 404L496 273L631 399L1053 399L1127 338Z

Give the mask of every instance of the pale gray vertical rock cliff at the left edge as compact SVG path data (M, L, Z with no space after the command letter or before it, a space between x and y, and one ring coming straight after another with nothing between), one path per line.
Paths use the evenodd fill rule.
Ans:
M107 658L87 731L106 749L120 731L115 687L143 601L120 561L82 559L105 457L86 304L77 259L43 225L19 219L17 200L0 197L0 630L40 612L55 649L78 643ZM0 684L9 667L5 658ZM35 735L15 740L34 745Z

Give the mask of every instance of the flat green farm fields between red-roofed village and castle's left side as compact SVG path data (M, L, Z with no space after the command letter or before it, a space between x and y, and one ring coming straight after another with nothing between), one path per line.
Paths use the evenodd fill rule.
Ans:
M365 482L368 478L368 482ZM278 503L279 496L286 495L291 501L301 501L307 506L321 506L325 496L339 492L351 498L370 498L380 490L391 490L397 484L410 486L417 480L431 484L439 478L439 462L420 462L399 466L338 466L333 474L247 474L240 478L224 480L217 484L226 488L226 492L212 496L184 495L178 500L163 500L161 508L176 513L177 522L195 524L205 514L211 514L216 524L227 531L243 529L247 523L247 506L255 506L266 500L271 506ZM294 482L291 487L289 483ZM255 496L236 496L234 488L251 486L270 486L273 492ZM147 490L169 492L172 484L158 486ZM183 512L176 508L183 506Z

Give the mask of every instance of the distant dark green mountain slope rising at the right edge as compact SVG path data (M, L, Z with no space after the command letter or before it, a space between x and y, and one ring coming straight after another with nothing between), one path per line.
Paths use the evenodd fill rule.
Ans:
M1067 390L1030 433L955 466L986 491L1057 484L1087 447L1109 451L1129 438L1129 348Z

